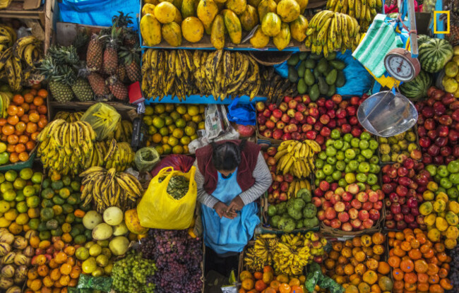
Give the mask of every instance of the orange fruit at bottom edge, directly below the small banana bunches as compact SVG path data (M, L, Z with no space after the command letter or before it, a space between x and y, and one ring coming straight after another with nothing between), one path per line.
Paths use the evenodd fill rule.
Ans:
M304 282L306 277L289 278L287 275L273 275L273 268L266 265L263 272L252 275L248 270L239 274L241 289L239 293L306 293Z

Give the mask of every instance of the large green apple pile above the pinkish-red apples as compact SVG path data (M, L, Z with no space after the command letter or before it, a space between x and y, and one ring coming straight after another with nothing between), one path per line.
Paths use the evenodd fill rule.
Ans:
M376 150L378 142L368 132L354 138L350 133L341 137L339 131L333 130L326 149L316 158L316 186L325 180L338 182L341 187L357 183L364 190L366 185L379 189L377 174L381 167Z

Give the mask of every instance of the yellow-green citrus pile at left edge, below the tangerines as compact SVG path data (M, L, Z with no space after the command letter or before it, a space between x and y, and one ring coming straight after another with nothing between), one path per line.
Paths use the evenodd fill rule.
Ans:
M36 229L35 222L40 217L40 184L43 174L25 168L16 172L0 173L0 228L12 234L23 232L24 225Z

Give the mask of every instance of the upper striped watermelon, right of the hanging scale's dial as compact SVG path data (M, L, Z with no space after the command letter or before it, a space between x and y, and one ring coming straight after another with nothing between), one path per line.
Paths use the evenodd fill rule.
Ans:
M433 38L419 46L419 63L429 73L441 71L451 58L453 46L446 40Z

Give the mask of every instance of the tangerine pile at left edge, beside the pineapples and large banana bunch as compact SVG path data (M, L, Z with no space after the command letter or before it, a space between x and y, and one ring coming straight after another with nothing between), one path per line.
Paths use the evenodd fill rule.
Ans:
M15 95L6 108L6 118L0 118L0 165L25 162L35 148L35 139L48 124L47 90L34 85L24 95Z

